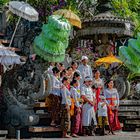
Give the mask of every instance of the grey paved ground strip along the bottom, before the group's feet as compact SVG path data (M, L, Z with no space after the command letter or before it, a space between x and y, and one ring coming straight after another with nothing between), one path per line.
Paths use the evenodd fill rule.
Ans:
M140 140L140 132L118 132L116 135L70 138L69 140ZM14 140L14 139L6 139ZM31 138L22 140L68 140L62 138Z

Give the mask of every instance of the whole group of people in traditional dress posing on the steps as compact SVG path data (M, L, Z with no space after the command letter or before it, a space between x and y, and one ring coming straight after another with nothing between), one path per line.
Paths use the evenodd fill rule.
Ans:
M46 98L52 118L50 125L59 125L63 137L91 136L97 129L99 135L114 134L121 129L119 95L113 80L106 79L105 83L99 70L93 72L87 56L82 56L79 65L72 62L68 68L62 63L51 63L47 73L52 79Z

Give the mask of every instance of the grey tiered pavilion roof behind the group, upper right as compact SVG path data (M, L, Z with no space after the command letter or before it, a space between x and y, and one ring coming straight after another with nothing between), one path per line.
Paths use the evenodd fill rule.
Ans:
M78 37L92 36L95 34L117 34L119 36L132 36L134 24L110 12L101 13L82 23L82 29L77 32Z

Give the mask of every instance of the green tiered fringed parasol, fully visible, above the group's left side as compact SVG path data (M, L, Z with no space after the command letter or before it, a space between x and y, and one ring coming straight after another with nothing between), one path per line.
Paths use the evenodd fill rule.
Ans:
M71 25L67 19L52 15L48 24L44 24L42 32L34 40L34 51L49 62L62 62L68 47Z

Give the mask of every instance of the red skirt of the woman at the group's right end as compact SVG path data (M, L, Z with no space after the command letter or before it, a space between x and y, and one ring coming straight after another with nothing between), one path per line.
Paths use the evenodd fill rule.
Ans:
M121 125L118 119L118 110L117 109L111 110L109 106L108 106L108 121L113 131L121 129Z

